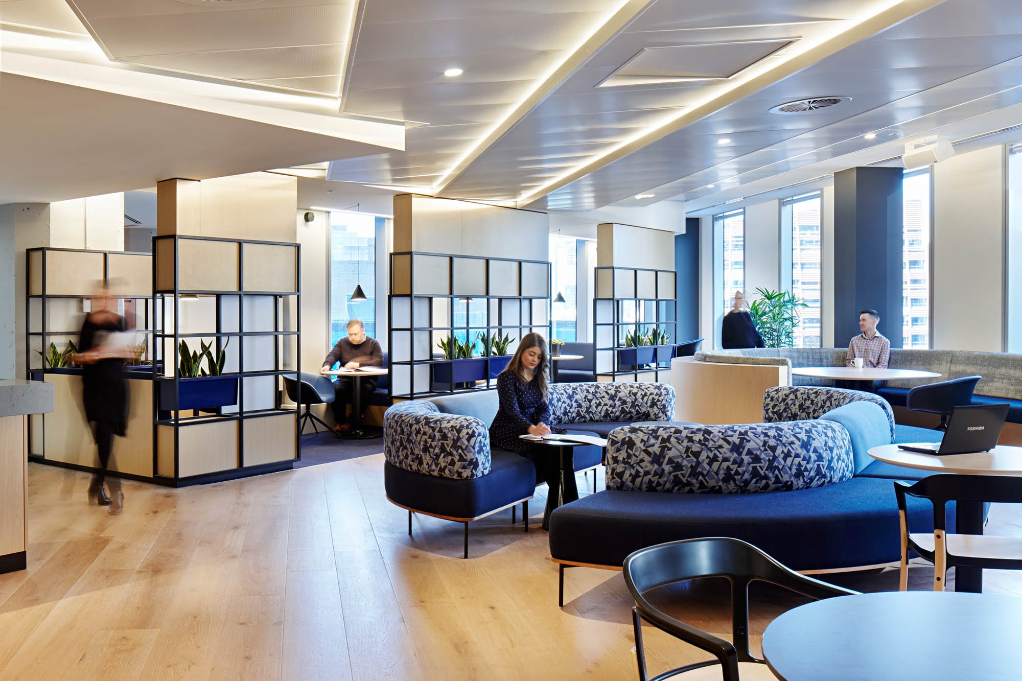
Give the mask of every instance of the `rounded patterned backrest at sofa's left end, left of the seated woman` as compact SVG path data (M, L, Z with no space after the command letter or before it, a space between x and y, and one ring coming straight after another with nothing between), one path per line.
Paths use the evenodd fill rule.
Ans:
M478 418L408 400L383 412L383 454L399 468L471 480L490 472L490 432Z

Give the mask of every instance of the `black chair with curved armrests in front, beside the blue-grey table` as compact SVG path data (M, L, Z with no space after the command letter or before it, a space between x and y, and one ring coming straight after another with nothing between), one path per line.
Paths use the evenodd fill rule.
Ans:
M704 577L725 577L731 582L732 641L713 636L680 622L654 607L645 592L656 587ZM832 596L850 596L857 592L842 589L811 577L799 575L777 560L738 539L708 537L684 539L640 549L624 559L624 582L636 600L632 608L636 654L640 681L659 681L705 667L721 665L724 681L744 678L774 678L764 661L749 652L749 583L768 582L815 600ZM642 643L642 621L713 653L716 660L672 669L649 679ZM700 678L703 678L700 675ZM705 676L705 678L711 678ZM712 678L719 679L719 675Z

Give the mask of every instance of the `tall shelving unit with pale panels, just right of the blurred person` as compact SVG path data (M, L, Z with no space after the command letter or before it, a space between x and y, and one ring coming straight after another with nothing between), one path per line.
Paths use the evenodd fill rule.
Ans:
M282 380L297 377L301 360L298 248L277 241L153 237L153 338L162 367L153 368L157 482L187 485L270 472L300 458L298 411L284 404ZM182 377L182 340L189 351L203 342L215 356L224 350L223 375Z

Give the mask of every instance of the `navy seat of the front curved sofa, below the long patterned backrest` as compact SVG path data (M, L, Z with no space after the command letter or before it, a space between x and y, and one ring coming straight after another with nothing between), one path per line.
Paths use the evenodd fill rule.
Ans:
M932 529L932 506L916 501L909 507L913 529ZM554 511L550 554L568 563L619 566L631 552L654 544L734 537L793 570L826 571L898 560L898 533L894 489L880 478L759 494L606 490Z

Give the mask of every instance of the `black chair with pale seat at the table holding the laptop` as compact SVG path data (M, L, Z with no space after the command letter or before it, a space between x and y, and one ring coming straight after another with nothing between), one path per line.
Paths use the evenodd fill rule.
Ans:
M1022 503L1022 478L1000 475L930 475L915 485L894 482L901 520L901 575L899 589L909 586L909 550L933 563L933 590L943 591L948 568L1022 570L1022 539L985 535L947 534L948 501ZM905 495L933 503L933 534L909 530Z

